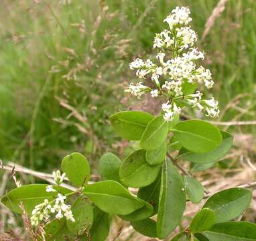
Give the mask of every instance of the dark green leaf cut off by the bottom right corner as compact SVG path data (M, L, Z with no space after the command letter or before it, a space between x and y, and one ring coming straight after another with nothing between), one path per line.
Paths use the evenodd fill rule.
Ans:
M215 224L203 234L210 241L252 241L256 240L256 224L249 222Z

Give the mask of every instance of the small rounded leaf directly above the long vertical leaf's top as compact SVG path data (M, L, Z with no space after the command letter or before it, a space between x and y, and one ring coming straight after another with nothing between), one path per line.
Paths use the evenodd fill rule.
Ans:
M157 165L164 161L166 158L167 145L164 142L160 147L155 150L146 151L146 161L149 165Z

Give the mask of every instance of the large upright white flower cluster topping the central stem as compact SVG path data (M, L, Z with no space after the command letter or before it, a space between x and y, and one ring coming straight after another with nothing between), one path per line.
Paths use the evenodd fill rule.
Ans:
M166 121L172 121L174 115L180 113L178 102L186 102L187 105L205 112L206 116L216 117L220 112L218 101L214 98L205 100L199 91L194 94L184 94L185 84L204 84L206 88L212 88L214 84L210 70L196 66L196 60L203 60L204 53L192 48L197 41L197 35L188 26L190 21L192 21L190 10L187 7L176 7L164 19L170 29L164 29L155 35L153 48L159 49L156 56L157 63L153 63L150 59L143 61L137 58L129 64L132 70L136 70L138 78L149 77L155 87L150 88L141 81L137 84L129 84L125 92L130 92L137 98L141 98L146 92L150 92L153 98L166 96L168 101L162 104ZM171 60L165 60L164 50L171 51Z

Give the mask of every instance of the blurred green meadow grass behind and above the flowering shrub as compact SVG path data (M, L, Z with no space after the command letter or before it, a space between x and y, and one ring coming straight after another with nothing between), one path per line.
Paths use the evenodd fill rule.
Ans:
M218 121L255 119L256 1L229 0L204 39L218 0L0 1L0 158L40 171L80 151L92 165L125 143L108 116L139 102L123 93L128 64L155 54L155 32L176 5L189 6ZM147 103L145 104L147 105ZM149 104L148 104L149 105ZM145 108L147 106L144 106ZM150 109L150 106L149 106ZM190 113L192 115L192 113ZM230 127L255 134L254 126Z

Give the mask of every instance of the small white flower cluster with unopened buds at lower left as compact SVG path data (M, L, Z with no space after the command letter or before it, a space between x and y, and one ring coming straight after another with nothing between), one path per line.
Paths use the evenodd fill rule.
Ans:
M65 173L61 175L60 171L54 171L52 174L54 176L54 181L60 185L64 180ZM46 186L46 191L58 192L52 185ZM38 226L39 222L42 222L43 220L47 221L50 218L50 214L55 213L56 219L65 217L66 220L75 222L72 215L71 206L65 204L65 199L66 195L62 195L61 193L58 193L56 195L56 199L51 202L49 202L48 199L44 199L44 202L35 206L34 210L32 211L32 216L30 218L31 225Z

